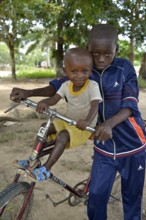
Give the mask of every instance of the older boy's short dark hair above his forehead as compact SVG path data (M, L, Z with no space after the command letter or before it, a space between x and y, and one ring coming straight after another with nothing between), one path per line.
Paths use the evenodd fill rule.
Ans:
M89 32L88 42L93 39L113 39L115 44L118 41L118 33L110 24L97 24Z

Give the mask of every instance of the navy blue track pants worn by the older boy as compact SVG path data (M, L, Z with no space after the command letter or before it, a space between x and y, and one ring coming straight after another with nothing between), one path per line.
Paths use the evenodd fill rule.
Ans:
M89 220L107 219L107 204L117 171L121 175L124 220L142 219L145 151L117 159L94 151L87 205Z

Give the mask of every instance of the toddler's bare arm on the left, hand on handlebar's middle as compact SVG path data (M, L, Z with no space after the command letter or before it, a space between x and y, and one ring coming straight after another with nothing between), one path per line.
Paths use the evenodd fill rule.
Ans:
M55 105L56 103L59 102L59 100L62 97L58 94L55 94L54 96L52 96L51 98L47 98L47 99L43 99L40 102L38 102L37 104L37 108L36 111L43 113L43 111L47 111L47 109L49 108L49 106Z

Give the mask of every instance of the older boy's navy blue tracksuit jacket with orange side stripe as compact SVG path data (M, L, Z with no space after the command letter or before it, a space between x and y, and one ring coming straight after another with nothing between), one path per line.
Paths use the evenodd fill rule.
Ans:
M95 150L109 157L128 156L146 148L144 123L138 110L137 75L132 64L123 58L115 58L102 73L93 68L90 79L100 87L103 102L99 104L99 122L111 118L122 108L132 109L127 120L113 128L113 138L106 144L94 141ZM51 85L59 89L67 80L53 80Z

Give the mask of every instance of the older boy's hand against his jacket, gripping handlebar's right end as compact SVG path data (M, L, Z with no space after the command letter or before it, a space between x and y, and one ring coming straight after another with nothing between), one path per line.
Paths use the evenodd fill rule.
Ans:
M99 141L107 141L108 139L111 139L112 127L110 126L110 124L104 122L100 125L97 125L94 137Z

